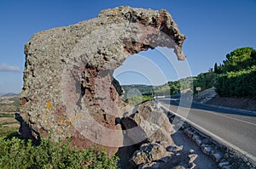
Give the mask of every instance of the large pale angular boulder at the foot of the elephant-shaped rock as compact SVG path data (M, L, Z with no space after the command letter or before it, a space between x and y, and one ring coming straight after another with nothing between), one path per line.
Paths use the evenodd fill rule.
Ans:
M168 146L174 145L171 134L174 131L166 114L154 110L153 105L142 104L137 112L121 121L125 127L125 136L131 140L130 144L137 144L143 140L150 143L166 142Z

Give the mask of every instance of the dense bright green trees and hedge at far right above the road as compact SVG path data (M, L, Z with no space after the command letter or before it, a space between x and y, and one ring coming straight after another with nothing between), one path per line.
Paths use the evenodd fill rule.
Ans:
M218 73L217 91L221 96L256 96L256 50L237 48L226 55L223 65L214 65Z

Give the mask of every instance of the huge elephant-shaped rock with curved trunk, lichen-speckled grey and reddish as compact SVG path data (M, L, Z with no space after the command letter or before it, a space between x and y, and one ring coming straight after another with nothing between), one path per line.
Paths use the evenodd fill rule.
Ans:
M115 120L127 111L113 70L129 55L158 46L185 59L184 39L166 10L130 7L38 32L25 46L20 116L35 138L51 132L55 140L72 137L79 147L99 144L112 154L124 144Z

